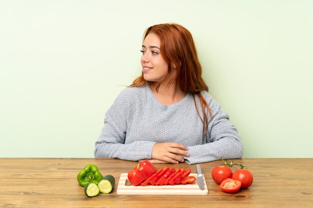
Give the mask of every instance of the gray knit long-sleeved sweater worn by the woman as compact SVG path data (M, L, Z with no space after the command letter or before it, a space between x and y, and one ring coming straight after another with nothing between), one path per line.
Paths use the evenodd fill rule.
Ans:
M242 157L243 148L228 115L206 91L201 92L208 111L208 131L196 112L191 94L171 105L162 105L150 87L127 87L117 96L104 118L104 127L95 143L96 158L137 161L151 159L155 143L175 142L188 147L188 164ZM202 111L197 96L200 115Z

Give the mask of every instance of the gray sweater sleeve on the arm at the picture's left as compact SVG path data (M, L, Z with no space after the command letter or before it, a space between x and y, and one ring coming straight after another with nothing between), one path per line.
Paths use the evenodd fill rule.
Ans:
M131 111L135 106L131 103L133 96L126 88L115 99L105 114L104 126L98 140L95 142L95 158L118 158L138 161L151 159L154 142L135 141L125 143L127 125Z

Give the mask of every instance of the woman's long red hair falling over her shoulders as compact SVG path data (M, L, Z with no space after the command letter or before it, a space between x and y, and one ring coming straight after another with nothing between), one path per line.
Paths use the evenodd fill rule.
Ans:
M182 92L192 94L195 109L204 127L203 136L205 136L208 130L208 120L204 109L209 111L210 119L212 119L212 113L200 93L202 90L208 91L208 87L201 77L202 67L191 33L175 23L156 24L148 27L143 33L143 40L149 33L157 35L160 39L160 54L168 65L167 74L156 86L156 92L160 85L169 78L172 66L175 65L176 75L169 80L167 86L176 80ZM130 87L139 87L147 83L150 84L149 81L144 80L142 72L141 76L133 80ZM198 111L195 95L199 98L203 119Z

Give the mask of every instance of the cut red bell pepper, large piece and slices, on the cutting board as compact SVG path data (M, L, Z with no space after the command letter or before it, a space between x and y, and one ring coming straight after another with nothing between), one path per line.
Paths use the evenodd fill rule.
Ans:
M168 167L157 170L150 162L142 161L128 172L127 177L133 186L192 184L195 178L189 176L190 172L190 169Z

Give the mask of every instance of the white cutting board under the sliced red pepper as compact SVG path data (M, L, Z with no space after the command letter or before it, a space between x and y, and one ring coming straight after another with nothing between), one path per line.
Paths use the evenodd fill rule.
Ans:
M189 176L197 177L197 174ZM203 176L204 189L201 190L196 183L166 185L166 186L132 186L128 181L127 174L121 174L117 186L118 195L207 195L206 182ZM126 186L127 185L127 186ZM130 186L129 186L130 185Z

